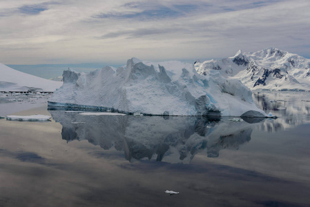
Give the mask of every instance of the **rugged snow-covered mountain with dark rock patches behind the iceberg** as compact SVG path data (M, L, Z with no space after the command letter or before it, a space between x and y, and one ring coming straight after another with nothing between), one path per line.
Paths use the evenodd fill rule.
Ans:
M240 79L251 90L310 90L310 59L277 48L241 52L220 60L195 62L195 70Z

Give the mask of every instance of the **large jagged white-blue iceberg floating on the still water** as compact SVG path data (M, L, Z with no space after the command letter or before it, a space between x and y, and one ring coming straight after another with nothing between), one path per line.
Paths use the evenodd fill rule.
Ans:
M222 115L266 117L252 92L238 79L212 70L199 75L189 63L129 59L126 67L94 72L64 71L64 85L49 106L106 108L143 115Z

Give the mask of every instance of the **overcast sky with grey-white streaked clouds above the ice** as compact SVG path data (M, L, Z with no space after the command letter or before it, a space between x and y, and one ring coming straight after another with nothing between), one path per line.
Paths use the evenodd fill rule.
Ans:
M309 0L0 0L0 62L217 59L275 47L310 58Z

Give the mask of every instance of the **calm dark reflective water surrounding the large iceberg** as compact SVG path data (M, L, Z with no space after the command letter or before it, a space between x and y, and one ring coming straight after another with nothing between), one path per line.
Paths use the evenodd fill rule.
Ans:
M1 119L0 206L310 206L309 93L254 97L279 118Z

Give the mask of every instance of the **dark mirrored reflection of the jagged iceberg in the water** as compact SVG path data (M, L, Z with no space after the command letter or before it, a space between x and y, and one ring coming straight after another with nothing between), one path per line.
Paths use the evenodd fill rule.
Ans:
M255 124L204 117L90 116L50 110L66 141L88 140L104 150L124 151L128 161L152 159L189 163L197 152L218 157L251 140ZM167 119L168 118L168 119Z

